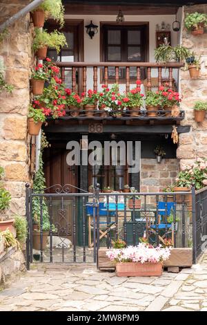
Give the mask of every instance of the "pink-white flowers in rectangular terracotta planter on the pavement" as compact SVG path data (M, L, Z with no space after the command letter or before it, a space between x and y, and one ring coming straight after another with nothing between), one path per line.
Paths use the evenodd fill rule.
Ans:
M163 262L170 257L170 248L139 243L127 248L111 248L106 251L106 256L117 262L117 277L159 277Z

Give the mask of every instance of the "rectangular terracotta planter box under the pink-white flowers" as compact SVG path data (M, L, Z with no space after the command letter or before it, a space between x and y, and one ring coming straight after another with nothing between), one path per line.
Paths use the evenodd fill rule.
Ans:
M117 263L117 277L160 277L162 263Z

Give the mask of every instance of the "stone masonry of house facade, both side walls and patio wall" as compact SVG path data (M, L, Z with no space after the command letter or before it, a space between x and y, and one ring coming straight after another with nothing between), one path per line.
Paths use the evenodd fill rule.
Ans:
M0 24L14 15L30 1L3 0L0 3ZM184 19L187 12L207 12L207 4L184 6ZM145 19L147 19L145 17ZM30 174L30 143L27 115L30 94L30 71L34 66L31 50L33 25L30 14L21 17L9 30L9 36L0 44L0 56L6 68L6 82L14 86L12 94L0 93L0 165L5 168L5 185L12 194L8 216L25 214L25 184L32 181ZM189 133L179 134L177 159L163 159L157 165L155 158L141 159L141 192L160 192L170 185L182 166L193 162L197 157L207 158L207 122L197 124L193 118L193 102L207 99L207 40L206 34L193 37L182 24L181 44L201 55L201 74L198 80L190 80L188 71L181 69L180 91L183 97L182 108L186 117L181 125L190 125Z

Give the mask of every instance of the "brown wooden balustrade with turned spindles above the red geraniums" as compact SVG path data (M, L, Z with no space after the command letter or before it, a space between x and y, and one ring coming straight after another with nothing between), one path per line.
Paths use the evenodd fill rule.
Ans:
M72 91L83 91L86 93L87 91L87 82L89 81L88 71L92 69L92 81L93 81L93 89L97 91L98 89L98 69L100 68L101 77L99 82L104 83L108 86L109 82L114 82L115 84L125 84L126 93L130 91L130 83L135 84L136 80L141 80L141 69L146 69L146 88L148 91L152 89L152 70L157 70L157 86L161 86L163 82L162 71L168 70L168 84L169 88L172 89L173 86L173 69L178 69L184 66L181 63L168 63L168 64L158 64L158 63L150 63L150 62L56 62L57 66L61 68L61 78L63 82L66 80L66 71L71 69L72 77ZM115 77L112 79L109 77L109 67L115 68ZM130 68L136 68L137 78L134 77L132 80L130 78ZM124 80L119 77L119 69L126 68L126 73ZM77 73L79 77L77 77ZM166 77L164 77L166 81ZM79 82L80 87L78 87L77 82Z

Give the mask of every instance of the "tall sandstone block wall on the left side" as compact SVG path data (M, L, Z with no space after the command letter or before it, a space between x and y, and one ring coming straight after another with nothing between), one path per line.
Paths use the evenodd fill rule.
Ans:
M3 0L0 24L30 1ZM6 187L12 194L7 214L25 214L25 183L28 173L27 113L30 103L30 67L33 25L30 14L8 28L9 35L0 44L0 55L6 68L6 82L14 86L12 94L0 93L0 165L6 171Z

